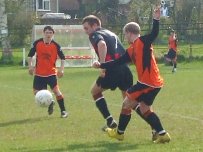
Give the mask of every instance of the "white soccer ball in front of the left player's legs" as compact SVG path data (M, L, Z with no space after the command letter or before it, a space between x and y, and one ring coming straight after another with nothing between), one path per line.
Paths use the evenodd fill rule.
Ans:
M48 107L53 102L53 96L49 90L40 90L35 95L35 102L40 107Z

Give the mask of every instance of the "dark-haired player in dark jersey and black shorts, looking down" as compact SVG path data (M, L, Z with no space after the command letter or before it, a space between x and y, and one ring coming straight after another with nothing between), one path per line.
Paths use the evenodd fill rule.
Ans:
M125 53L125 49L118 37L113 32L102 28L98 17L94 15L86 16L83 18L82 24L84 31L89 35L89 40L95 49L99 62L105 63L117 59ZM108 70L101 70L91 89L91 94L96 107L106 120L104 128L116 128L117 123L109 112L106 99L102 93L107 89L115 90L118 87L123 98L125 98L125 92L132 84L133 76L126 64Z

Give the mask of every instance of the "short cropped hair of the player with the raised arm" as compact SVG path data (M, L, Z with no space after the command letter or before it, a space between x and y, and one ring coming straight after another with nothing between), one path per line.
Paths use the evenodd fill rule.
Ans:
M140 26L136 22L129 22L123 27L123 32L130 32L133 34L140 33Z

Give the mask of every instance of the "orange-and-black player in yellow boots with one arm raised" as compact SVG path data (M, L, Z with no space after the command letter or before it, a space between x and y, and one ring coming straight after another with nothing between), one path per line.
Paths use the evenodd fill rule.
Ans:
M158 66L153 55L152 43L159 32L160 8L154 11L153 28L150 34L140 36L140 26L135 22L126 24L123 28L125 38L130 43L126 53L120 58L106 62L95 63L95 67L111 69L124 63L132 62L136 66L138 81L131 86L126 94L119 117L118 127L107 128L106 132L112 138L124 139L124 132L131 119L131 110L137 105L140 114L145 121L155 129L157 135L153 138L154 143L170 141L170 135L164 130L157 114L152 109L155 97L163 86L163 78L160 76Z

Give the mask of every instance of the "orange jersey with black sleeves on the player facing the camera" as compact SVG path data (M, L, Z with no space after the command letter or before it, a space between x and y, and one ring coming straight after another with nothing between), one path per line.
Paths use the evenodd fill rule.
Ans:
M36 53L36 66L35 75L47 77L56 75L56 60L59 57L61 60L65 60L65 56L61 50L59 44L55 41L50 43L44 43L43 39L39 39L33 43L33 47L28 53L28 57L33 57Z

